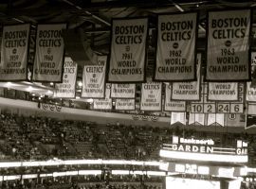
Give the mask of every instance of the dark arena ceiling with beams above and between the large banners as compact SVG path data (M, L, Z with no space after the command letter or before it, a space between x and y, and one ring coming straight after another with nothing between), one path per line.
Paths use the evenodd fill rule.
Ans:
M147 75L153 73L155 63L155 26L159 13L181 11L199 12L199 30L197 49L204 51L206 46L206 15L210 9L241 9L256 8L255 1L229 0L1 0L0 24L12 25L30 23L36 30L41 23L62 23L68 25L68 30L82 29L86 42L97 54L108 54L110 44L111 19L120 17L147 16L149 18L149 47L147 60ZM256 26L256 11L253 14L253 30ZM1 29L2 30L2 29ZM254 33L253 33L254 34ZM72 41L77 36L68 36ZM252 43L252 49L256 46ZM82 48L72 49L82 52ZM66 50L68 55L70 52ZM32 64L32 56L28 64ZM82 70L82 69L79 69ZM78 80L82 79L82 71ZM2 83L0 86L4 86Z

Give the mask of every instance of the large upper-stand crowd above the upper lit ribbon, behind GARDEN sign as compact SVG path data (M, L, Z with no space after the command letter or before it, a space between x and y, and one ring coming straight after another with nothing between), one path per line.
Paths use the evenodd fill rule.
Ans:
M122 125L98 125L93 122L58 120L37 116L0 115L0 160L121 159L159 160L162 144L171 143L173 135L211 138L216 146L249 143L250 163L256 136L246 133L211 133L178 127L153 128Z

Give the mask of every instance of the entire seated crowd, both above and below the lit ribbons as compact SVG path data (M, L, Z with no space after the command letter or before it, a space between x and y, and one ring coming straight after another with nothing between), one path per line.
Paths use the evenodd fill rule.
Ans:
M98 125L93 122L59 120L48 117L0 114L0 161L59 159L119 159L157 161L162 144L171 143L172 136L211 138L217 146L233 145L237 139L248 141L249 163L255 164L254 135L247 133L210 133L179 127L153 128L122 125ZM90 168L102 168L102 167ZM35 167L37 169L38 167ZM67 169L71 169L68 167ZM77 167L75 167L77 169ZM87 167L88 168L88 167ZM126 167L127 168L127 167ZM133 167L129 167L133 168ZM0 169L0 175L43 172L33 168ZM71 169L72 170L72 169ZM49 170L47 170L49 171ZM53 172L53 171L52 171ZM75 177L46 180L12 180L0 182L0 188L78 188L78 189L161 189L161 185L146 184L141 177L112 176L107 181ZM143 181L141 181L143 180ZM84 182L84 183L83 183ZM251 184L244 188L251 188Z

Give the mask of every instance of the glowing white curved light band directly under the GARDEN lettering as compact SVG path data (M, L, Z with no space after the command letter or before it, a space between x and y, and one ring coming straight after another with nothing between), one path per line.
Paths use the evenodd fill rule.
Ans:
M164 158L192 160L201 162L220 162L220 163L247 163L247 155L223 155L223 154L208 154L208 153L192 153L183 151L170 151L160 149L159 155Z

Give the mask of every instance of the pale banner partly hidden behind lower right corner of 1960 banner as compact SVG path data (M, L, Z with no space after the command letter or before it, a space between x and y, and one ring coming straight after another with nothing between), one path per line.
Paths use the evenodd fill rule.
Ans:
M70 57L64 58L63 83L55 84L54 97L74 98L76 96L77 63Z

